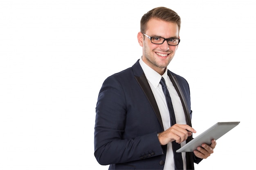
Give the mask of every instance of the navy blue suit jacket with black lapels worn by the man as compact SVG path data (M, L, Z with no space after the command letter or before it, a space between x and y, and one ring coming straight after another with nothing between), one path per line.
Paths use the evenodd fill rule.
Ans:
M189 84L169 70L168 76L191 126ZM139 60L103 82L94 129L94 155L101 165L110 164L109 169L118 170L163 169L167 147L161 146L157 137L162 131L162 118ZM201 160L187 152L187 169L194 169L193 162Z

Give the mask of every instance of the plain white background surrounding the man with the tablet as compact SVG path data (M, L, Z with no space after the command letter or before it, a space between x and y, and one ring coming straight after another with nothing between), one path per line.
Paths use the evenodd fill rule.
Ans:
M139 59L139 21L159 6L182 18L168 68L190 84L194 137L240 121L195 168L254 167L253 0L1 0L1 170L108 169L94 157L97 95Z

